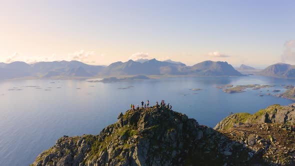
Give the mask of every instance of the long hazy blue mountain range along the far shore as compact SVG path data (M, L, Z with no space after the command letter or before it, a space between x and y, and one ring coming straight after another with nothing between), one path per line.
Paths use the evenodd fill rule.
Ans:
M150 59L144 62L117 61L108 66L89 65L80 61L51 61L27 64L22 61L0 63L0 79L19 77L93 77L122 75L196 75L243 76L230 64L222 61L203 61L192 66L172 60Z

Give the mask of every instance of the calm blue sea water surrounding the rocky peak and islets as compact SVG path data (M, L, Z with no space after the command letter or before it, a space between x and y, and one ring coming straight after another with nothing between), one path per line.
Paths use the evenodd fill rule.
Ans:
M270 84L275 87L224 93L218 85ZM264 76L172 77L125 82L85 80L0 81L0 165L29 165L63 135L98 134L117 115L148 99L214 127L228 112L253 113L292 100L259 93L284 91L293 80ZM194 91L191 88L202 88ZM266 91L266 90L269 91ZM262 91L260 91L262 90Z

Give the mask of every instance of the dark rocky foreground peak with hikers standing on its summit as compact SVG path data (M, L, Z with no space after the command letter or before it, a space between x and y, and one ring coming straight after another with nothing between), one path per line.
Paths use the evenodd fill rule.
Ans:
M31 165L253 165L247 147L166 107L120 113L98 135L63 136Z

